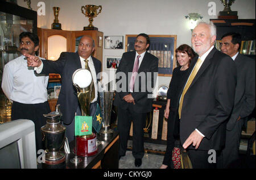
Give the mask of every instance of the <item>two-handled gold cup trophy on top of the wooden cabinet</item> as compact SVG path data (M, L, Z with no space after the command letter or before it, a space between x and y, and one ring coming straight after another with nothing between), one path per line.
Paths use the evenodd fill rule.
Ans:
M100 9L98 12L97 10ZM85 5L81 7L82 14L84 14L86 17L89 18L89 26L84 27L84 31L86 30L98 30L97 27L94 27L92 22L93 18L97 17L98 14L101 13L101 6L96 6L96 5Z

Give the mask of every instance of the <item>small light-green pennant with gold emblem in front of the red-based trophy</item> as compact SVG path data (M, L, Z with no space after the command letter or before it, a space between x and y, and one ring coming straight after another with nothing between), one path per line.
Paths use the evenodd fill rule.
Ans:
M75 136L92 134L92 116L75 116Z

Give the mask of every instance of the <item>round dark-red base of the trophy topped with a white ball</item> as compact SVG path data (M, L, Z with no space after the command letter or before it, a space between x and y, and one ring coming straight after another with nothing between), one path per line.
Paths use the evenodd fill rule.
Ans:
M95 133L86 136L76 136L76 145L77 153L76 147L74 148L74 153L78 156L93 156L98 152Z

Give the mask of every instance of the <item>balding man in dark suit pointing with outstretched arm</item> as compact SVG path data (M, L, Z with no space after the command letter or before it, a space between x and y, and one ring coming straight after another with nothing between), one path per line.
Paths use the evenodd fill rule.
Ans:
M77 91L73 87L72 75L77 69L85 68L85 61L89 60L88 65L90 72L92 73L95 98L90 104L90 114L93 115L97 106L97 74L101 72L101 62L96 58L90 56L94 51L94 40L90 36L82 36L78 51L73 52L62 52L59 59L56 61L39 60L36 56L27 56L27 65L37 67L36 73L49 74L57 73L61 76L61 89L57 104L60 104L60 110L63 114L63 123L67 127L66 136L68 141L71 142L75 138L75 113L81 115L79 107L79 101L77 99Z

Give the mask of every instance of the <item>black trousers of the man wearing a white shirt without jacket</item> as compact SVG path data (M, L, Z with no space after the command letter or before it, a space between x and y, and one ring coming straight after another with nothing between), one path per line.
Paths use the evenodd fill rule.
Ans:
M38 104L23 104L13 102L11 107L11 120L28 119L32 120L35 124L35 139L36 139L36 152L39 149L46 149L42 141L41 127L46 125L46 120L43 114L51 112L48 101Z

